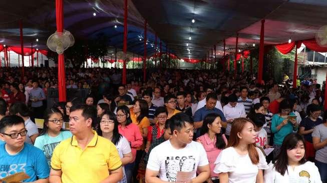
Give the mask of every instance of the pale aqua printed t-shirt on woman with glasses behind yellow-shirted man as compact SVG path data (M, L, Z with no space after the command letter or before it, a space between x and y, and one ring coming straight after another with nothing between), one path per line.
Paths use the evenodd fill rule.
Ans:
M38 136L35 139L34 146L40 148L46 155L49 168L51 168L51 157L55 147L63 140L72 137L72 132L69 130L61 131L58 136L52 137L48 133Z

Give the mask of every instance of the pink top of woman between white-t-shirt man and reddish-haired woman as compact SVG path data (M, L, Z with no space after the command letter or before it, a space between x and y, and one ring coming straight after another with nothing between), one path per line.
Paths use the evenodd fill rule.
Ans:
M222 134L222 138L224 139L225 143L227 144L227 139L226 139L225 134ZM197 139L200 140L200 142L202 143L202 145L207 153L207 157L209 160L209 166L210 166L210 177L218 176L218 173L213 172L213 169L215 167L214 162L216 161L220 151L222 151L223 149L219 149L216 147L216 137L212 141L209 138L208 133L205 133L204 135L199 136Z

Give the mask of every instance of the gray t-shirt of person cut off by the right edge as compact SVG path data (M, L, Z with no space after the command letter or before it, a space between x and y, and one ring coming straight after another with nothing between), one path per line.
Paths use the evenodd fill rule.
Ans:
M327 126L323 123L315 126L312 137L319 137L320 142L324 141L327 138ZM327 145L315 152L315 160L327 163Z

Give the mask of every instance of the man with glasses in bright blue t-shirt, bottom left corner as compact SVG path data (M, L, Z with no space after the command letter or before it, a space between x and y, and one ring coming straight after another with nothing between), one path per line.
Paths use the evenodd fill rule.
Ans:
M24 171L30 177L23 182L49 182L49 166L43 151L25 143L24 119L8 115L0 120L0 178Z

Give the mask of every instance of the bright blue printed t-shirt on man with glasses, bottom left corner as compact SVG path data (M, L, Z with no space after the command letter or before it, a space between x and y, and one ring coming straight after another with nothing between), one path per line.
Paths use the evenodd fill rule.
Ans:
M21 171L30 176L23 182L49 177L49 166L42 150L25 142L24 148L20 152L11 155L7 152L5 144L0 144L0 178Z

